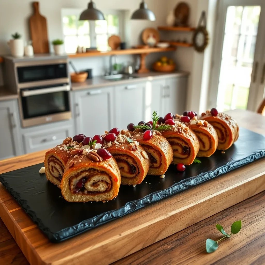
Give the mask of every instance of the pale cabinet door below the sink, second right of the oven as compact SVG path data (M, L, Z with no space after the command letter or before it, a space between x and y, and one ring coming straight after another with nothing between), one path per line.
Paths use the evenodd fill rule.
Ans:
M126 129L144 120L144 91L145 83L115 87L115 127Z

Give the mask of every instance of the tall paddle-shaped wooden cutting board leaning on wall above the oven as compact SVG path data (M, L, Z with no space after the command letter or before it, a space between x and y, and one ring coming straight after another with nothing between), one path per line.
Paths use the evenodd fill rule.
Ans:
M29 18L30 37L34 54L49 53L47 21L39 13L39 2L33 2L34 13Z

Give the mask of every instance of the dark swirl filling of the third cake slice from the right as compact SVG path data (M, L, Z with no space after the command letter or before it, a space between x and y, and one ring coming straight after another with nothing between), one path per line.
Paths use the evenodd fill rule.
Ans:
M185 159L189 157L191 153L191 148L188 143L179 137L169 137L167 141L170 143L173 149L174 157Z

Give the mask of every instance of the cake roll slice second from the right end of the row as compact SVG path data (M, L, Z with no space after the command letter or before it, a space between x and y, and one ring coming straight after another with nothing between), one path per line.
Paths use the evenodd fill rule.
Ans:
M218 135L209 122L198 120L197 116L190 118L189 116L180 116L178 114L175 115L174 120L185 123L196 134L200 143L198 157L209 157L216 151Z

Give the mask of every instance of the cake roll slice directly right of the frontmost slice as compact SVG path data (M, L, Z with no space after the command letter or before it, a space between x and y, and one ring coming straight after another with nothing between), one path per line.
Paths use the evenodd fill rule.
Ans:
M139 142L131 139L131 134L124 130L116 134L103 135L103 147L117 161L121 172L121 184L137 185L142 183L149 170L149 158Z

